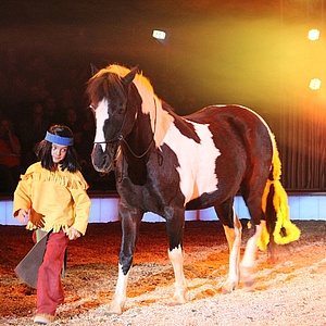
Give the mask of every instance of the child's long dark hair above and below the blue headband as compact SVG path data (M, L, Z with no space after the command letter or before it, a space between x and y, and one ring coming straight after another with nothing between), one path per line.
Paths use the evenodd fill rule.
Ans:
M49 133L61 137L74 138L73 131L64 125L53 125L50 127ZM52 171L54 167L51 150L52 142L46 139L40 141L35 149L36 155L41 161L42 167L49 171ZM68 172L72 173L76 172L77 170L80 170L80 165L78 163L78 154L73 146L67 147L66 155L60 162L60 167L62 171L66 168Z

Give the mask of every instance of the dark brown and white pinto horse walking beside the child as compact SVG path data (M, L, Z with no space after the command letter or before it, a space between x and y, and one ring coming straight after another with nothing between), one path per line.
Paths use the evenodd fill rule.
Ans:
M122 246L109 313L124 311L138 229L146 212L166 220L176 303L186 301L187 291L183 268L186 210L214 206L224 226L230 254L223 292L235 290L240 275L241 283L251 286L258 241L263 229L273 234L276 224L275 208L265 190L277 190L268 177L279 159L262 117L239 105L212 105L178 116L159 99L138 67L110 65L97 71L88 82L87 95L97 124L92 164L98 172L115 171L121 196ZM234 210L239 190L252 226L241 263L242 227Z

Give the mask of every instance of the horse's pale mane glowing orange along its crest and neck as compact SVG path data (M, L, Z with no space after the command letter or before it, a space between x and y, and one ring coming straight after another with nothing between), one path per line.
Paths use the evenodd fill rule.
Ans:
M101 76L105 73L114 73L120 77L124 77L129 72L130 70L125 66L111 64L106 68L101 70L97 75ZM154 93L150 80L145 77L142 73L136 74L134 84L142 99L141 111L145 114L150 114L155 146L159 148L162 145L166 131L171 123L174 121L174 117L168 114L167 111L162 109L161 99Z

